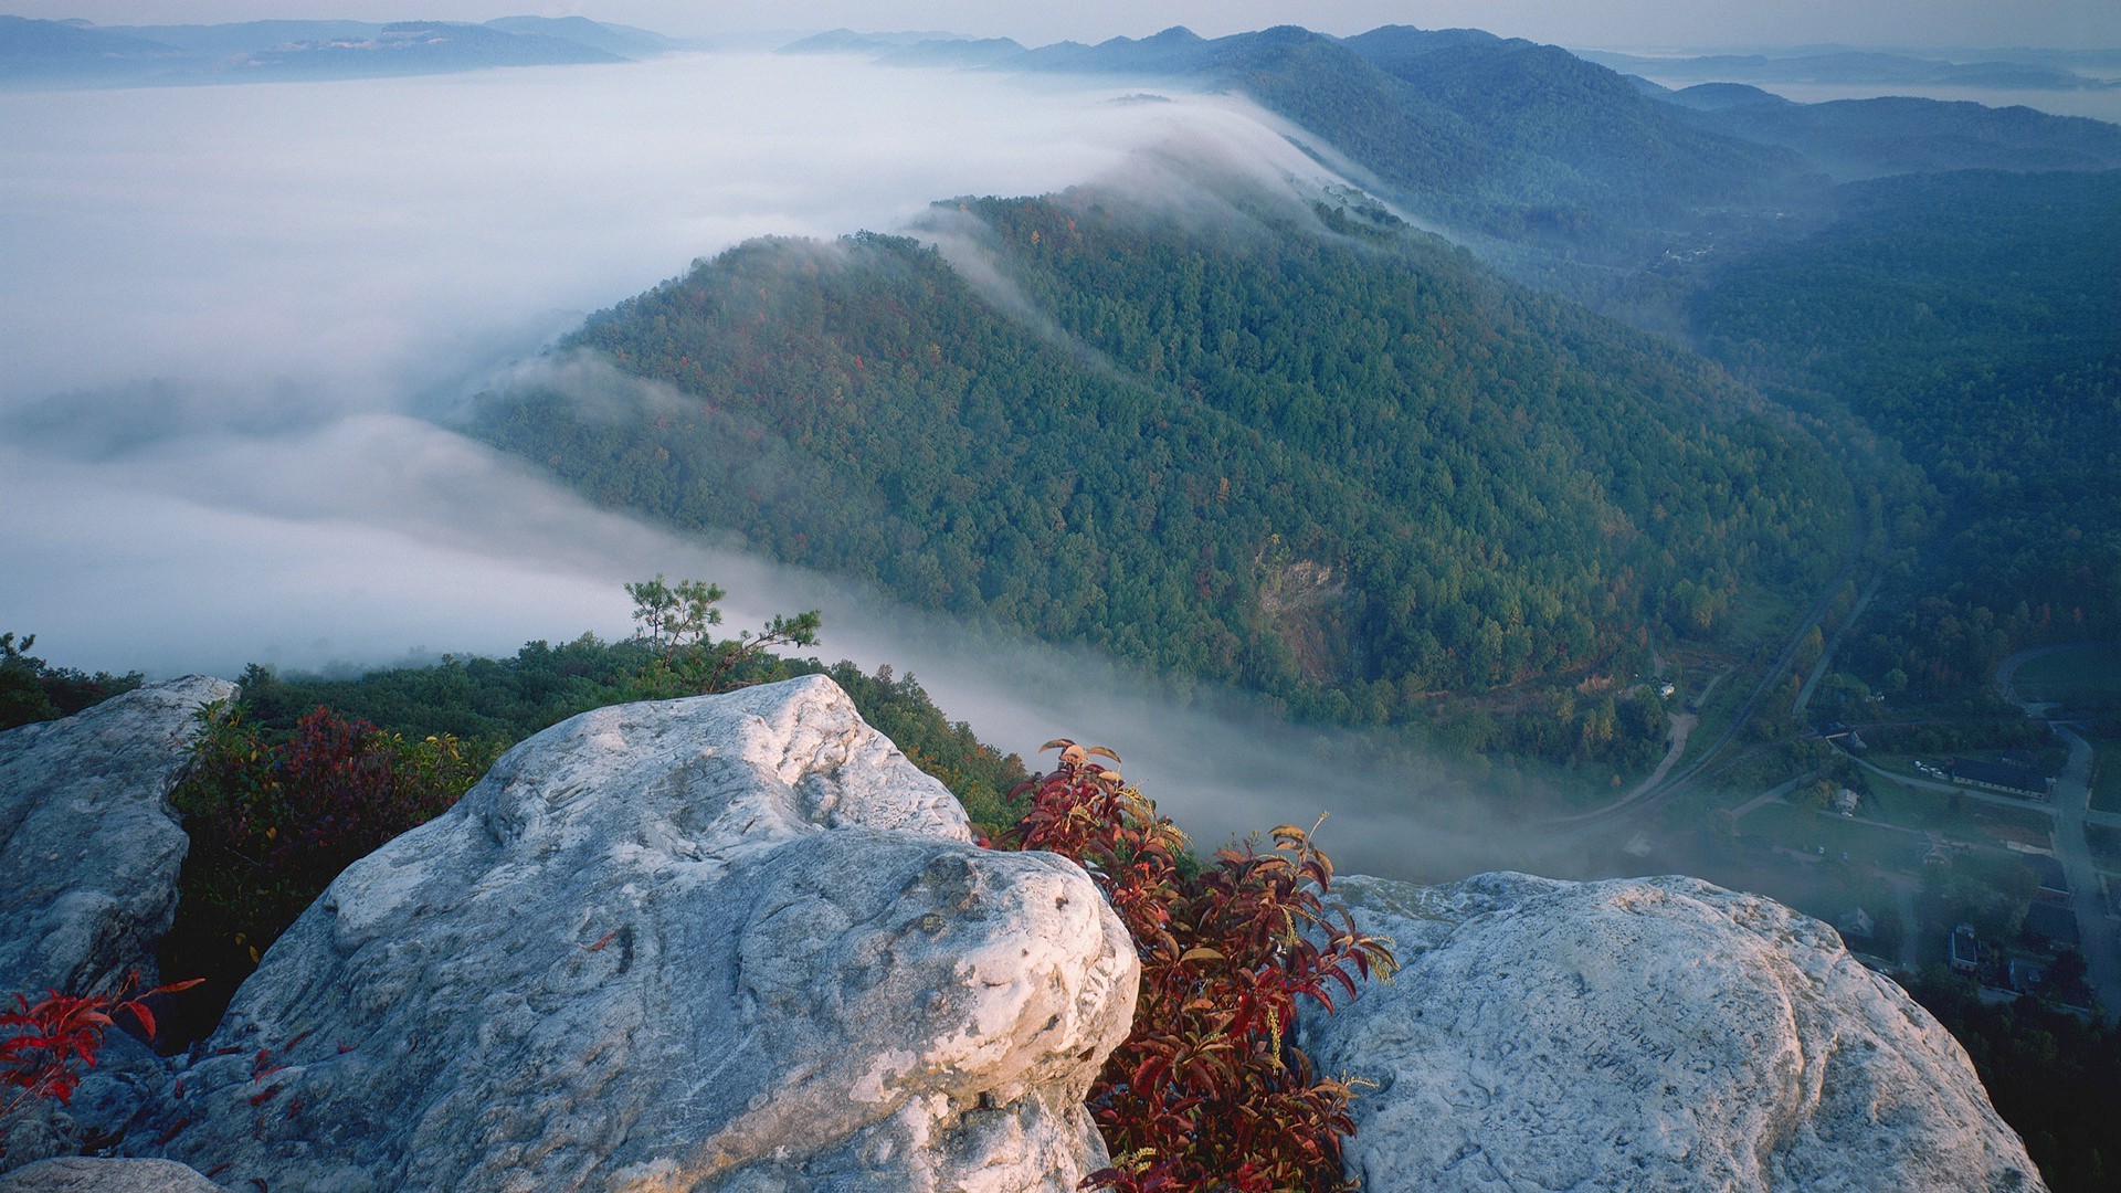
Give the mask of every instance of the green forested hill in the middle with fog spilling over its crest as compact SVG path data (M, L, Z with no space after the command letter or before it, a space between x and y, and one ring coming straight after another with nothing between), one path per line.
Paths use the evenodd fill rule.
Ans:
M1833 463L1716 369L1425 236L1264 204L946 204L984 293L914 240L744 244L562 346L660 399L490 395L477 433L607 505L1298 715L1591 677L1557 760L1610 754L1593 673L1646 633L1839 563Z

